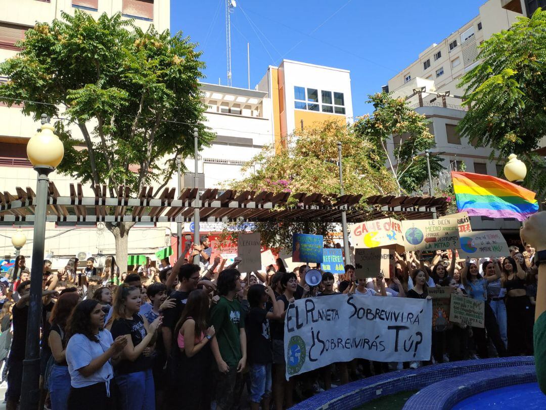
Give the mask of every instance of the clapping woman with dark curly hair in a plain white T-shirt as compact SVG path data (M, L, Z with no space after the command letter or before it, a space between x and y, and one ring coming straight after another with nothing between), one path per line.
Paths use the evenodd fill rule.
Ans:
M96 300L84 300L68 318L66 361L70 373L68 410L111 410L112 359L119 358L127 337L112 339L103 329L105 314Z

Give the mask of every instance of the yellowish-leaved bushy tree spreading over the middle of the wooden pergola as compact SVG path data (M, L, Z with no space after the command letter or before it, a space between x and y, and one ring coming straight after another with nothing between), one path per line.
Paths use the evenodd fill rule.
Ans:
M232 181L230 189L256 192L290 192L296 194L318 192L328 198L340 193L339 168L337 166L337 142L342 143L343 189L345 194L390 194L396 190L395 181L385 167L373 164L380 159L369 142L359 138L351 125L327 121L288 137L287 149L275 153L273 147L265 147L246 163L242 173L247 177ZM295 206L290 198L287 206ZM292 233L305 232L326 236L332 225L321 220L308 222L263 222L257 230L262 241L269 247L290 247Z

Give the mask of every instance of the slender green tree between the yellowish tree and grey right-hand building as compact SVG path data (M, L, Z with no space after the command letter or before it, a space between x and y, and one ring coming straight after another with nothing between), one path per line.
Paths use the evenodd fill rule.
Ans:
M397 194L414 192L428 180L424 151L433 148L434 136L427 127L424 115L408 107L403 98L392 98L387 93L369 96L373 114L364 115L355 124L355 133L376 148L378 161L372 162L375 169L388 163L397 185ZM394 149L389 149L394 136ZM439 155L430 156L430 170L437 175L442 170Z

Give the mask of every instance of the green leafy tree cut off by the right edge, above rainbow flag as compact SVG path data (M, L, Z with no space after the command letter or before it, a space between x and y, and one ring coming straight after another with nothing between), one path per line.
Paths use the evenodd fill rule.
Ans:
M493 148L491 157L518 154L530 171L524 184L544 198L546 168L532 152L546 137L546 12L519 17L480 49L481 62L459 84L468 107L459 132Z

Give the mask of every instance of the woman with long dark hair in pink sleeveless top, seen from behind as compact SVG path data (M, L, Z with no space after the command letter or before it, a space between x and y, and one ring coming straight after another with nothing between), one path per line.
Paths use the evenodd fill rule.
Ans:
M210 339L214 326L207 327L209 295L194 290L175 326L177 348L171 349L169 370L173 386L169 405L173 408L199 410L210 408L209 381L211 377ZM182 399L191 397L191 400Z

